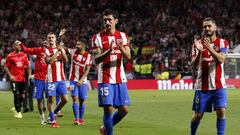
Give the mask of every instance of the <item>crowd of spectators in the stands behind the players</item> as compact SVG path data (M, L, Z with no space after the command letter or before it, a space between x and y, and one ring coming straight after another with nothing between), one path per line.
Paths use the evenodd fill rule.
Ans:
M190 72L191 45L200 38L205 17L216 19L218 35L229 40L230 49L240 43L239 7L238 0L2 0L1 66L14 40L37 47L48 32L62 28L67 29L66 46L80 39L90 49L91 36L102 28L102 11L111 8L118 11L118 29L131 40L128 78L162 79L166 72L170 79L179 78Z

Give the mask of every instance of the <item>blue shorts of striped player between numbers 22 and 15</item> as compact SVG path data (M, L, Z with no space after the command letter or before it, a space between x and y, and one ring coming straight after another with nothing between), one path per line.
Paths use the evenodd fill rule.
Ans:
M78 96L79 99L87 99L87 85L82 84L77 86L77 82L70 81L70 89L72 90L71 96Z

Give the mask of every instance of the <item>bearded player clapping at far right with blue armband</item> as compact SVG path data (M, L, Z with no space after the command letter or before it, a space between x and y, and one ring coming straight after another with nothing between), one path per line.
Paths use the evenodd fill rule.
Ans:
M200 40L195 40L192 47L192 64L198 69L198 74L191 135L196 134L204 112L212 112L213 107L217 115L217 134L224 135L227 94L223 67L229 44L216 36L217 25L214 19L205 18L202 26L204 35Z

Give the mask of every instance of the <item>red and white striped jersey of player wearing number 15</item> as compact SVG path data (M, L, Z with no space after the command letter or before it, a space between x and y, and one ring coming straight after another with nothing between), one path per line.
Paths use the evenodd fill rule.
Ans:
M123 55L118 47L119 43L129 46L128 36L124 32L115 31L114 34L108 34L106 31L101 31L97 33L92 37L92 49L100 48L102 52L105 52L110 48L112 41L114 42L113 51L98 65L98 83L127 82L123 67Z

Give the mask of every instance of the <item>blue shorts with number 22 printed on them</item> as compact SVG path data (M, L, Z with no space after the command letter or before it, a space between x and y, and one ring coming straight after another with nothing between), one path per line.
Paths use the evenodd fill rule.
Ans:
M65 95L68 93L65 81L48 82L47 83L48 96L55 97L56 95Z

